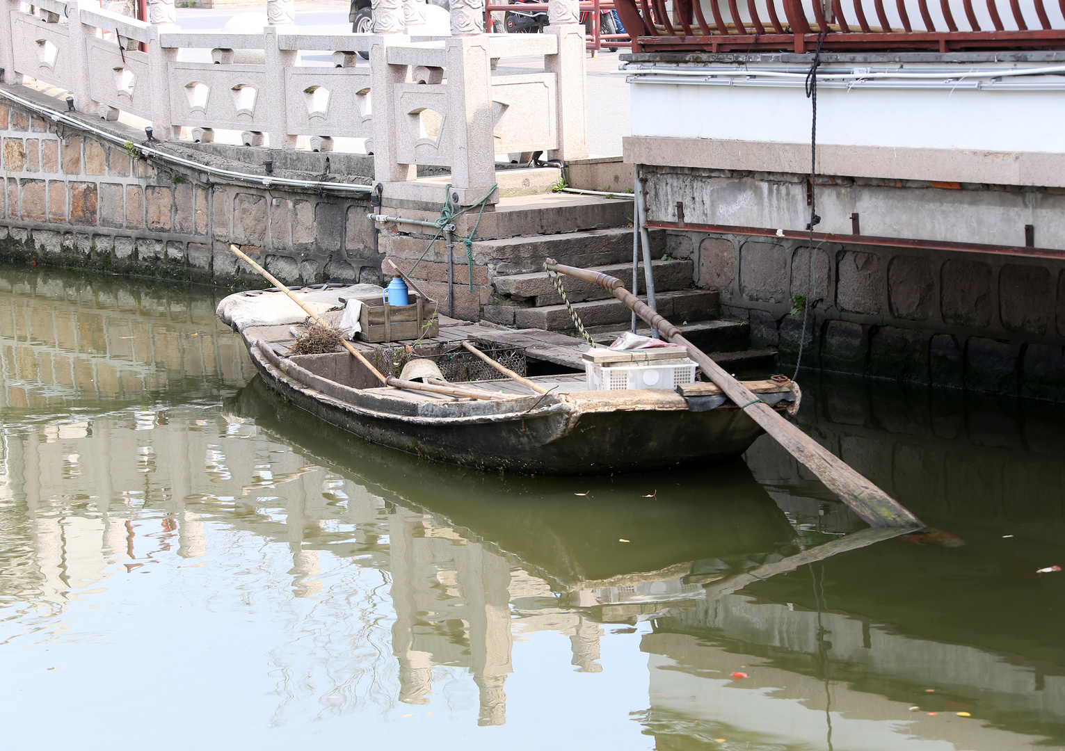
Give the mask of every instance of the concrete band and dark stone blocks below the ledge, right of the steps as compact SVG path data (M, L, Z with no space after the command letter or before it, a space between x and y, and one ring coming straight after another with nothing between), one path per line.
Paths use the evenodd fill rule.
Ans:
M802 176L645 172L652 219L673 222L677 200L684 202L686 221L701 224L779 226L760 214L786 202L797 213L784 226L796 226L799 214L809 211L800 195ZM917 207L890 214L891 234L900 238L929 238L933 229L943 230L936 219L962 222L971 213L969 232L980 216L1019 222L1012 228L988 227L988 232L1010 231L1014 244L1022 245L1027 216L1007 209L1034 202L1048 219L1065 216L1061 191L902 181L819 185L818 213L850 212L865 201L863 228L882 224L886 218L870 209L883 206L879 196L885 191L898 194L892 203ZM737 216L722 216L728 211ZM1058 247L1054 243L1065 235L1051 231L1054 222L1041 227L1037 244ZM671 230L667 251L692 258L697 284L720 290L724 313L750 321L754 345L779 348L783 363L798 357L803 317L792 310L809 292L813 317L805 327L804 366L1065 401L1065 259L826 242L816 249L810 285L809 244L803 240Z

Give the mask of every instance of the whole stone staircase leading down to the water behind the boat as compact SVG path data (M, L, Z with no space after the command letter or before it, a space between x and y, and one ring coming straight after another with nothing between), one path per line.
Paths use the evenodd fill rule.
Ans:
M424 216L410 210L403 214L432 218L428 212ZM570 313L543 270L544 259L609 274L632 289L630 217L630 201L557 193L504 197L495 211L481 216L470 247L473 291L469 289L469 265L461 262L465 246L456 243L456 316L576 336ZM466 235L474 219L470 214L458 217L456 234ZM667 256L665 231L653 230L650 238L658 312L723 365L733 370L771 369L775 353L753 350L749 325L721 320L717 291L695 288L693 260ZM384 255L405 272L413 266L413 278L426 294L446 299L443 243L438 242L428 251L426 244L424 235L381 233ZM642 265L638 282L642 290ZM596 342L608 344L629 329L630 311L606 290L572 277L562 277L562 284ZM650 333L642 322L639 328Z

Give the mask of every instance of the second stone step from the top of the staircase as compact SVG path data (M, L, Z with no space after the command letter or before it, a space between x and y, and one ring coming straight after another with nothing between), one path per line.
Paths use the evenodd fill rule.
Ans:
M480 236L478 231L477 236ZM666 249L666 233L657 230L650 233L651 257L661 258ZM383 231L378 240L378 248L386 257L403 259L413 264L421 259L419 273L435 274L432 278L446 278L447 245L438 240L430 245L430 238L412 236ZM588 268L611 263L632 262L632 229L595 229L564 234L498 238L475 240L472 247L473 262L481 273L491 275L512 275L542 273L545 258L554 258L559 263ZM429 264L428 266L426 264ZM400 265L400 267L403 267ZM404 271L408 271L404 268ZM455 244L456 280L459 275L466 280L466 248L463 243ZM415 278L423 278L415 274ZM429 277L426 277L429 278ZM487 278L487 277L486 277ZM689 273L690 278L690 273ZM474 279L475 284L486 283Z

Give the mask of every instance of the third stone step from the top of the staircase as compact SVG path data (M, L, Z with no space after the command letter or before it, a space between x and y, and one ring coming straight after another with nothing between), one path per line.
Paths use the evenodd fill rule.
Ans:
M559 260L559 259L555 259ZM652 270L655 276L656 292L672 292L691 287L692 263L687 259L672 261L652 261ZM612 263L605 266L591 266L589 271L601 272L621 279L625 289L633 289L633 264ZM643 266L641 264L638 281L643 287ZM492 287L501 295L506 295L518 301L531 299L537 308L548 305L559 305L562 298L555 291L547 272L534 272L531 274L512 274L509 276L497 276L492 281ZM572 277L562 277L562 289L571 303L584 303L586 300L606 299L612 295L599 284L580 281Z

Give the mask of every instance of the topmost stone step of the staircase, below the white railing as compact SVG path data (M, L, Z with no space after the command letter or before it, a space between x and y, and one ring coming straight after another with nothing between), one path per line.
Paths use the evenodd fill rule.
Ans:
M381 212L410 219L436 222L440 218L442 208L442 201L439 205L423 202L408 205L405 201L392 201L386 198ZM529 196L504 196L494 207L488 207L479 214L479 223L478 213L477 209L473 209L455 219L457 236L469 238L474 226L477 228L475 240L625 227L633 223L633 200L574 193L540 193ZM403 231L412 229L410 226L402 228ZM424 234L424 231L420 233ZM629 230L629 243L632 243L632 230Z

